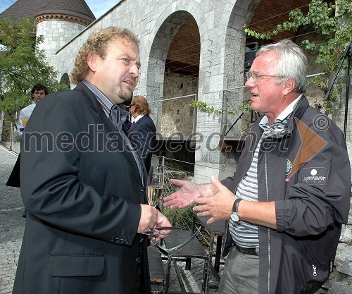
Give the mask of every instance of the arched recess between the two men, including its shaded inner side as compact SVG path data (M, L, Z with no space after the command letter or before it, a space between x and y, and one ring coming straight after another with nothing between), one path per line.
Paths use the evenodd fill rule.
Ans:
M196 35L194 47L191 44L180 44L180 38L183 41L180 35L187 35L187 29ZM168 152L168 147L175 142L175 138L180 145L178 152L168 153L167 157L190 163L194 163L194 152L187 150L191 144L189 137L195 128L195 113L189 104L196 99L199 87L200 47L199 27L195 18L187 11L175 11L165 18L156 32L146 70L146 97L149 97L151 116L157 130L163 136L164 148ZM184 55L178 54L177 50ZM194 60L187 59L188 55L194 55ZM185 97L188 95L193 96ZM168 100L175 97L184 98ZM193 171L193 165L190 169Z

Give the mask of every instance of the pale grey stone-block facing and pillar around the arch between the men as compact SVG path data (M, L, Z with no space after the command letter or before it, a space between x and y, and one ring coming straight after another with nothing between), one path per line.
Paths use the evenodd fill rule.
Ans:
M223 106L224 90L234 85L243 85L243 65L245 36L243 25L251 18L256 5L260 0L227 1L227 9L209 8L194 1L176 1L175 5L165 8L153 27L149 39L150 54L146 70L146 96L149 101L162 100L164 90L165 61L173 37L177 34L182 23L194 18L199 27L201 43L201 58L199 62L199 100L209 106L219 109ZM178 9L178 10L177 10ZM240 42L238 41L240 40ZM239 99L241 100L241 99ZM155 120L160 121L161 109L155 113ZM197 114L196 132L204 137L213 137L213 140L199 143L195 161L206 164L202 166L201 176L208 177L214 174L214 169L220 165L227 166L227 159L215 146L219 143L222 130L222 118ZM158 129L160 130L160 128ZM211 141L211 142L210 142ZM211 146L212 148L209 148ZM230 169L232 169L230 167ZM232 170L233 171L233 170ZM198 171L195 170L195 173ZM216 173L216 172L215 172ZM219 172L219 176L222 172Z

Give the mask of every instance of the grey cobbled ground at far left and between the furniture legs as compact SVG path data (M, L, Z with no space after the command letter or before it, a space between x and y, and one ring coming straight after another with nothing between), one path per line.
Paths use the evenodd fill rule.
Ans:
M0 146L0 294L12 293L13 280L20 254L25 219L22 217L24 207L20 198L20 189L6 186L17 155L8 152ZM184 269L184 262L180 262L180 274L187 292L200 292L203 276L203 260L193 259L191 270ZM213 285L217 281L210 277ZM170 292L179 292L180 284L175 269L170 272ZM209 294L216 293L210 289ZM48 293L49 294L49 293Z

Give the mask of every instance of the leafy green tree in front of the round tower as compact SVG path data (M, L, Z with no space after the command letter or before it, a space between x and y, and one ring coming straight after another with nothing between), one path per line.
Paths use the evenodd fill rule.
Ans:
M30 90L38 82L49 92L65 90L67 85L57 82L57 72L46 62L38 44L44 39L34 37L34 18L21 22L0 18L0 110L6 120L14 121L15 111L32 103Z

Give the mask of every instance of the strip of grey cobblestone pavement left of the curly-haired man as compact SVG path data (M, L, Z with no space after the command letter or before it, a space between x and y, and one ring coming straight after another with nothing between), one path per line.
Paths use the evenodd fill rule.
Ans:
M25 219L20 188L6 186L17 154L0 147L0 294L12 293Z

